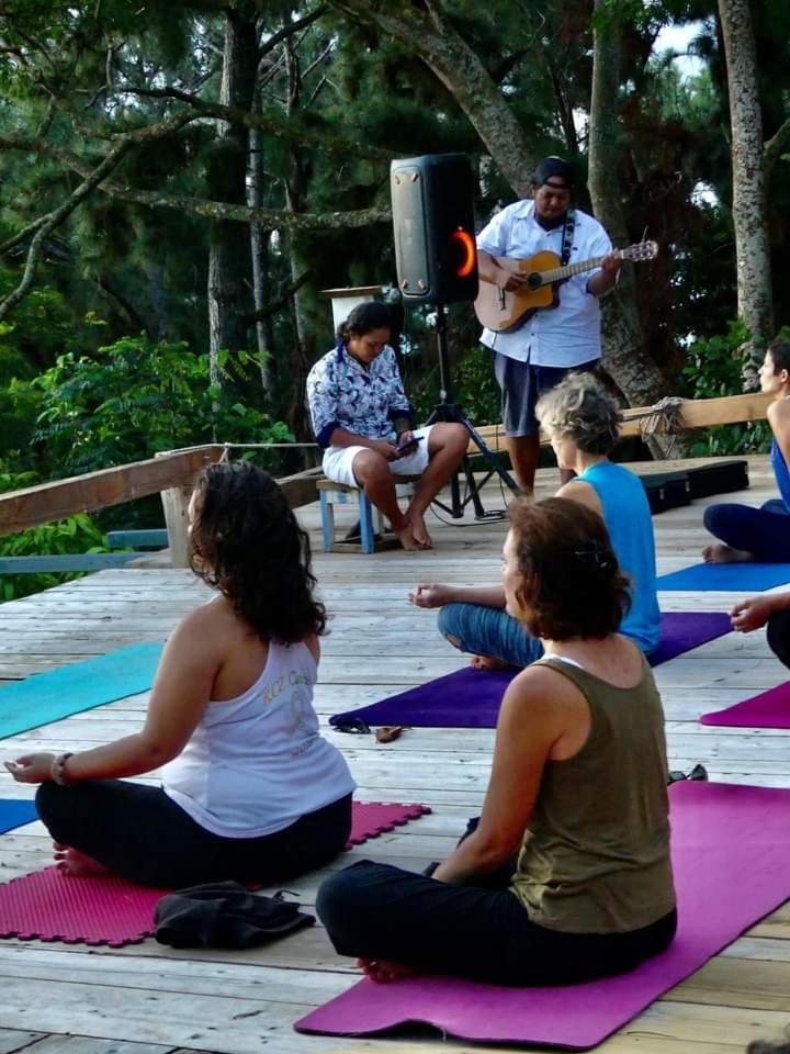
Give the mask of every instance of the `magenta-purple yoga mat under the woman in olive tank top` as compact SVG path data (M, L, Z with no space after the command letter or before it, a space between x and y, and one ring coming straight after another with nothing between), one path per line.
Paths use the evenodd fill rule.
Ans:
M564 988L362 980L296 1030L371 1035L426 1022L462 1040L600 1043L790 897L790 790L686 782L669 797L678 933L663 955L631 974Z

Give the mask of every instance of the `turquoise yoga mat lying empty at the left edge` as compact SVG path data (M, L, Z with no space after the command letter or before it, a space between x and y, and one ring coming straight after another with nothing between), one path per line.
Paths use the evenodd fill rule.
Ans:
M147 692L161 652L162 644L132 644L0 688L0 739Z

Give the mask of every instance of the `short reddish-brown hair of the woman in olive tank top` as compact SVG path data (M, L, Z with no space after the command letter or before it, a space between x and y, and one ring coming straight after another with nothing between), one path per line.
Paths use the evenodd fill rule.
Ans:
M602 640L631 607L601 517L579 502L549 497L510 505L510 527L523 581L518 601L533 637Z

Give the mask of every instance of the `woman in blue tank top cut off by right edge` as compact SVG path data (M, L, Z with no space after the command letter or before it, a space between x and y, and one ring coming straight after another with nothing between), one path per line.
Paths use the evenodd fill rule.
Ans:
M768 346L759 379L760 391L775 396L767 416L774 433L771 467L781 497L760 508L710 505L704 525L719 540L702 550L709 563L790 563L790 340L774 340Z

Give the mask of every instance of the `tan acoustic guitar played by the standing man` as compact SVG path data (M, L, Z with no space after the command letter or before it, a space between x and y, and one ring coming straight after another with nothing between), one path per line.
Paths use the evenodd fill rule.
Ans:
M655 242L639 242L625 249L614 249L621 260L653 260L658 254ZM562 266L556 253L535 253L527 260L512 260L500 256L496 262L509 271L527 274L527 282L514 292L506 292L494 282L481 279L475 300L475 314L479 322L495 333L511 333L522 326L537 311L551 311L560 303L560 283L574 274L599 267L602 256L595 256L578 264Z

